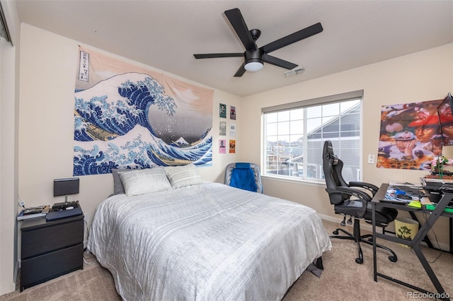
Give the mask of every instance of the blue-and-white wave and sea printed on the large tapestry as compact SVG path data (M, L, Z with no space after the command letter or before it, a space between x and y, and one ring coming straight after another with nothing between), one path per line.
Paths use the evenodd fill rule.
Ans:
M74 176L106 174L112 168L212 165L211 129L192 145L165 143L149 123L149 110L156 107L172 116L173 98L149 75L120 76L130 78L121 82L113 76L98 83L101 89L95 85L75 93ZM96 95L99 91L102 95Z

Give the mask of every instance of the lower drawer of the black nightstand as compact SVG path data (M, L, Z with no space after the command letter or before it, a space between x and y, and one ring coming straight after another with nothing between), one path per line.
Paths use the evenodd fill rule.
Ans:
M21 290L83 268L84 244L25 259L21 264Z

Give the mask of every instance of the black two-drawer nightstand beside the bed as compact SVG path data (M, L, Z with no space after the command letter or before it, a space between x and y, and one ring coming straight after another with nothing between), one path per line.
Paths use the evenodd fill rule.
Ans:
M84 215L21 225L21 291L84 268Z

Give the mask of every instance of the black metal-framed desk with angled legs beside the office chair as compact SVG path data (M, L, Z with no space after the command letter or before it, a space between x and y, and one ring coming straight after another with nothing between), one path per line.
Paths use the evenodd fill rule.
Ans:
M442 199L440 199L439 203L437 204L437 207L435 208L434 211L423 211L423 209L417 209L417 208L411 208L406 205L400 205L400 204L395 204L395 203L381 203L379 199L384 199L385 193L387 191L387 188L389 187L389 184L382 184L379 190L377 191L377 194L374 195L371 204L372 204L372 228L373 228L373 264L374 264L374 281L377 281L377 277L382 277L385 278L389 281L393 281L395 283L405 285L408 288L411 288L413 290L418 290L421 293L427 293L427 294L434 294L431 293L428 290L424 290L423 288L418 288L415 285L411 285L409 283L405 283L403 281L399 281L398 279L391 278L389 276L386 276L382 273L379 273L377 271L377 256L376 256L376 239L377 238L382 238L383 240L389 240L391 242L398 242L400 244L406 244L410 247L412 247L413 251L418 257L418 260L422 264L423 268L425 268L426 273L430 277L430 280L432 284L435 286L437 293L434 294L437 296L437 299L440 300L450 300L449 297L447 297L446 292L444 288L442 288L442 285L440 284L439 280L437 279L437 276L435 276L434 271L432 271L432 268L428 261L426 260L425 256L420 250L420 242L423 241L425 236L428 234L428 231L432 228L432 225L435 224L437 219L440 216L446 216L449 217L450 220L453 218L452 213L446 213L444 212L444 208L448 205L449 201L453 199L453 191L448 192L442 195ZM403 240L398 237L390 236L390 235L385 235L379 232L376 232L376 207L387 207L387 208L396 208L398 210L402 211L408 211L408 212L420 212L420 213L426 213L429 214L430 216L426 220L426 222L421 226L421 228L418 230L417 235L413 238L413 240ZM451 225L451 223L450 223ZM451 236L452 233L450 232L450 245L451 245ZM450 252L452 250L450 249ZM452 292L450 292L452 293Z

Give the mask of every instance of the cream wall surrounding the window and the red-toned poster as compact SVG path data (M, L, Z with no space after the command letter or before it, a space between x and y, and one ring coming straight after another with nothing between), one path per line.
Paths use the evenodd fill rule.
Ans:
M244 98L242 110L247 112L248 118L243 120L242 126L247 131L241 132L240 139L247 143L247 151L241 153L240 159L256 161L261 158L258 133L262 107L364 90L362 158L357 158L362 163L363 180L378 186L389 180L419 183L420 177L428 172L377 168L375 164L367 164L367 154L377 156L382 105L444 98L453 90L452 66L453 45L445 45ZM445 148L449 158L453 158L451 148ZM333 213L324 184L264 177L263 187L266 194L304 203L326 218L339 218ZM442 218L435 229L439 240L447 244L447 218Z

